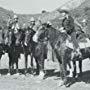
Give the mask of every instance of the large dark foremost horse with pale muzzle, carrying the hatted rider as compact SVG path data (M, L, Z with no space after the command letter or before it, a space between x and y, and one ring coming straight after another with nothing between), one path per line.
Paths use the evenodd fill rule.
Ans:
M46 23L43 24L44 28L38 31L37 39L39 39L40 35L43 34L44 37L48 37L48 40L56 53L56 57L59 61L60 65L60 74L62 81L60 82L61 85L68 85L68 78L67 78L67 64L71 61L71 55L73 53L73 49L66 46L66 40L68 35L66 33L61 33L60 31L54 29L52 26L47 25ZM79 68L80 74L82 74L82 60L85 58L90 58L90 48L81 49L82 57L79 58L74 56L73 58L73 66L74 66L74 74L76 76L76 61L79 61ZM71 65L69 64L71 68Z

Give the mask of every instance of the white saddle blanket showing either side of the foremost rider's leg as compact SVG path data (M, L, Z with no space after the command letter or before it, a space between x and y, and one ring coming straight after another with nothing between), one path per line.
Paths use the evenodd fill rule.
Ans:
M74 49L73 43L70 42L69 40L66 40L66 46L71 49ZM88 38L86 38L86 42L79 42L79 47L80 47L80 49L90 47L90 40Z

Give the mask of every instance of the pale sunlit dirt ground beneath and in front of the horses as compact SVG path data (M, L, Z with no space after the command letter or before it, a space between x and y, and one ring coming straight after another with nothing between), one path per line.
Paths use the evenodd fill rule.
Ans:
M30 58L29 58L30 59ZM30 63L30 60L29 60ZM28 64L28 67L30 65ZM21 55L19 60L19 69L24 68L24 56ZM2 56L0 76L0 90L90 90L90 60L83 61L83 76L79 77L70 87L59 87L58 83L60 78L58 77L59 66L57 62L46 61L45 69L48 70L48 77L44 80L38 81L37 76L27 74L11 75L7 76L8 69L8 56L7 54ZM55 71L53 71L55 69ZM5 73L6 72L6 73Z

